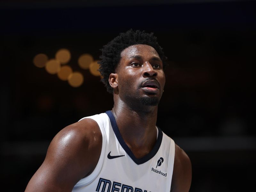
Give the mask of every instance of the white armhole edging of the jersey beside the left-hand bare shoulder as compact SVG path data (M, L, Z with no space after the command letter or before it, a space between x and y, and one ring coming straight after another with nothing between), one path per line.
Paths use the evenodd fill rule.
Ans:
M100 114L101 115L101 114ZM102 146L101 146L101 152L100 152L100 158L99 158L99 161L95 167L95 169L93 170L93 172L88 175L87 177L79 180L76 185L74 186L74 189L76 187L81 187L81 186L86 186L86 185L89 185L90 183L92 183L92 181L94 181L97 176L100 174L100 171L102 169L102 165L103 165L103 161L104 161L104 154L105 154L105 149L106 149L106 142L107 142L107 136L106 136L106 132L104 130L104 123L100 122L99 123L99 117L100 115L95 115L95 116L89 116L89 117L84 117L82 119L85 119L85 118L90 118L90 119L93 119L94 121L97 122L97 124L99 125L100 127L100 132L102 134ZM82 119L80 119L79 121L81 121ZM102 120L101 120L102 121Z

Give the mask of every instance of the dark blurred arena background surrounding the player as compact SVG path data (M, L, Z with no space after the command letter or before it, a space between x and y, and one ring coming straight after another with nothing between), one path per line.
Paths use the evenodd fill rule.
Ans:
M85 53L99 60L104 44L133 28L154 32L168 57L157 124L191 159L190 191L253 191L255 5L232 0L1 1L2 190L24 191L57 132L112 108L112 95L100 77L79 67L78 60ZM45 62L36 64L38 54L50 60L63 49L63 57L71 59L61 66L79 72L80 86L79 81L71 86L72 74L62 81L60 74L45 70Z

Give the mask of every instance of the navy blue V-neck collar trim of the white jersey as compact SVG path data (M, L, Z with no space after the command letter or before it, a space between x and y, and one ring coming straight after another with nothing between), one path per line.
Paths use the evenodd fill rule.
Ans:
M157 153L157 151L160 148L160 145L162 143L162 139L163 139L163 132L159 127L157 127L158 128L158 137L157 137L156 144L153 147L153 149L146 156L144 156L140 159L137 159L133 155L131 149L124 142L124 139L123 139L118 127L117 127L116 119L115 119L112 111L106 111L105 113L108 115L108 117L110 119L110 123L112 125L113 131L116 135L117 140L119 141L120 145L124 148L125 152L132 158L134 163L136 163L138 165L143 164L143 163L147 162L149 159L151 159L152 157L154 157L156 155L156 153Z

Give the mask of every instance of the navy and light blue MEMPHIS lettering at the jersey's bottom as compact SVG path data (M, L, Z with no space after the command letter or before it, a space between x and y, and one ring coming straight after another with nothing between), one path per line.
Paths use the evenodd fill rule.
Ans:
M112 188L111 188L112 186ZM100 191L101 189L101 191ZM140 188L133 188L132 186L125 185L118 183L116 181L113 181L113 183L110 180L100 178L99 183L97 185L96 191L98 192L148 192L147 190L142 190ZM151 192L151 191L149 191Z

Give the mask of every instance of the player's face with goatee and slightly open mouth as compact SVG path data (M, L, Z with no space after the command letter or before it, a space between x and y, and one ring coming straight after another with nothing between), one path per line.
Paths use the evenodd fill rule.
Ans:
M119 97L130 104L156 106L165 84L163 62L156 50L145 44L127 47L117 67Z

